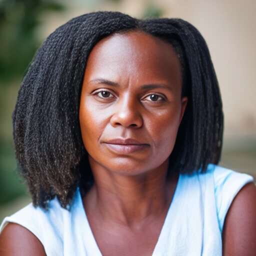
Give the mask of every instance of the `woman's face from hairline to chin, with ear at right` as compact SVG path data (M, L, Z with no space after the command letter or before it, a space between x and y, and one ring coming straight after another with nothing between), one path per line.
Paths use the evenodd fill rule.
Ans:
M186 102L169 43L141 31L100 40L87 60L79 109L90 162L127 175L168 162Z

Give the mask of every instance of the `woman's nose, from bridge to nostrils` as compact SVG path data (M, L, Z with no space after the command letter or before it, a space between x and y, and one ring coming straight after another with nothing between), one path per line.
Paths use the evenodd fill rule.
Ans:
M110 118L113 127L121 125L123 127L139 128L143 124L143 119L139 111L139 103L131 98L119 100L115 105L114 113Z

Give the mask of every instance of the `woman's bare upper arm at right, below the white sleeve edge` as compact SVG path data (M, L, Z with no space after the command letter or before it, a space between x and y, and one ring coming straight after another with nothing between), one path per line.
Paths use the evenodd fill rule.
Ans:
M235 196L225 217L224 256L256 255L256 187L246 184Z

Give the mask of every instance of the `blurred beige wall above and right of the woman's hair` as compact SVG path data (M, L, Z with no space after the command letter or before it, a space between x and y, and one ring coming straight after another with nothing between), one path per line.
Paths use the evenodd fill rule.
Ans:
M225 115L224 147L256 147L255 0L76 0L68 11L45 17L38 30L46 37L73 16L93 10L118 10L139 17L145 3L164 16L191 22L204 36L215 66Z

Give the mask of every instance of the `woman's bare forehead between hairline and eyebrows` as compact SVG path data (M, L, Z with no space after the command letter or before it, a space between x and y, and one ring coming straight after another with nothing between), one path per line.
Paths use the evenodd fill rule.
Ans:
M112 75L112 77L109 77ZM172 45L142 31L112 34L92 48L85 76L113 79L171 80L181 83L179 59Z

